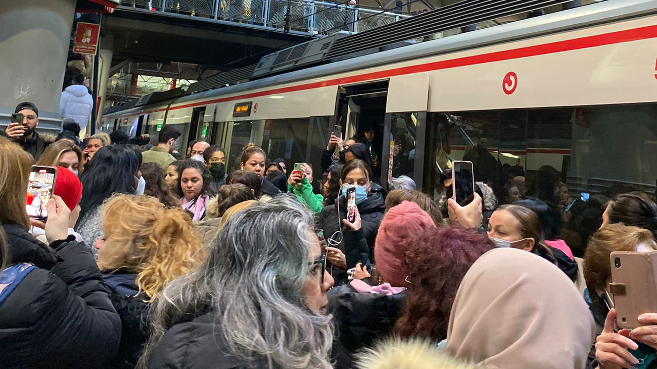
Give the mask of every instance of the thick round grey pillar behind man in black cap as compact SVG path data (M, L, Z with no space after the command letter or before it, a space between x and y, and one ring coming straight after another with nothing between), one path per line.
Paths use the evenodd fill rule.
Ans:
M39 130L58 130L76 0L0 3L0 123L9 123L16 104L31 101Z

